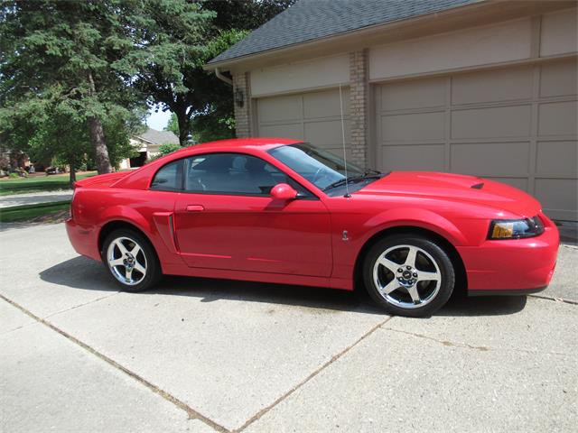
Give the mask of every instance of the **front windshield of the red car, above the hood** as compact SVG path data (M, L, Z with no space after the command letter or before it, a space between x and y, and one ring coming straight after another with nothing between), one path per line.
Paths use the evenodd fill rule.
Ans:
M269 154L312 182L319 189L340 186L346 181L345 161L339 156L309 143L275 147L269 151ZM359 169L348 162L348 179L360 179L366 175L366 170Z

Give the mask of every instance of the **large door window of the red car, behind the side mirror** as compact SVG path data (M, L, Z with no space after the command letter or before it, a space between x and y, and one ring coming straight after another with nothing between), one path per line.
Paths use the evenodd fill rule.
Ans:
M242 153L210 153L185 162L185 190L240 195L268 195L287 176L273 165Z

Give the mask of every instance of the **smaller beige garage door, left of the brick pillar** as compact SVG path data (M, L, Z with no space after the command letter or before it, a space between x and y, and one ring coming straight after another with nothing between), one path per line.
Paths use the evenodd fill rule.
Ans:
M342 88L345 141L350 158L350 91ZM343 155L340 90L263 97L256 101L258 134L304 140Z

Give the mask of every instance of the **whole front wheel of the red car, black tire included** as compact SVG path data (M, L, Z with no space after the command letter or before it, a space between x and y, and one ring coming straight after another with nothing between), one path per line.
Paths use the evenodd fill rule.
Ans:
M369 296L388 314L423 318L452 296L455 270L443 248L422 235L387 236L363 263Z

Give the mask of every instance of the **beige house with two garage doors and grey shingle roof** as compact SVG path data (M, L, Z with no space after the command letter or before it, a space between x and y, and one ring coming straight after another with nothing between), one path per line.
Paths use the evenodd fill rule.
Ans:
M237 134L480 175L578 220L576 2L300 0L210 60Z

